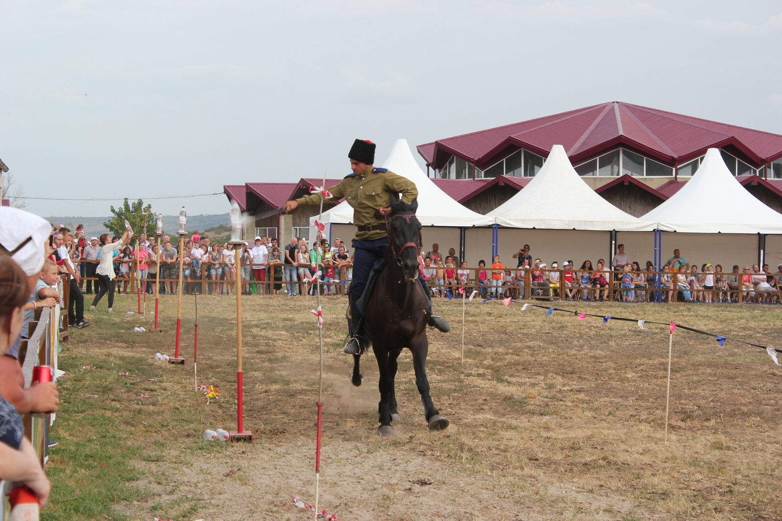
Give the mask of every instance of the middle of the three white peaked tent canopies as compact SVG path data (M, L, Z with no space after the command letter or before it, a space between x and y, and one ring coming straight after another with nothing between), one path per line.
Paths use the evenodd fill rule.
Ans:
M543 168L521 192L491 214L508 228L644 232L655 223L641 221L608 203L576 173L565 148L554 145Z

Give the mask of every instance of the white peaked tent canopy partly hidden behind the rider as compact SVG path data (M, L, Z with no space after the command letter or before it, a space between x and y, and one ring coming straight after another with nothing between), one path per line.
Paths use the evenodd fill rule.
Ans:
M383 168L388 168L395 174L399 174L413 181L418 188L418 210L416 216L424 226L450 226L471 227L493 225L493 217L476 214L474 211L463 207L446 192L443 192L421 170L415 162L407 139L397 139ZM317 217L310 218L310 226L314 226ZM353 207L347 201L339 203L331 210L323 213L325 224L346 224L353 222Z

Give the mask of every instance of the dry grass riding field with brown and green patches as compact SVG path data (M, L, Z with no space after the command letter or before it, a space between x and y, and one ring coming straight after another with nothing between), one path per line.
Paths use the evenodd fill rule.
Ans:
M174 354L170 296L161 334L132 332L149 322L125 314L135 297L121 296L115 314L102 303L91 327L63 344L45 519L312 517L289 497L315 496L314 298L243 300L253 444L201 438L235 429L234 298L199 297L199 383L221 389L208 405L193 389L192 296L184 367L153 360ZM464 362L460 300L435 301L453 329L429 332L432 398L449 429L426 429L407 353L396 378L402 422L379 438L375 359L364 356L364 385L353 387L341 348L345 299L323 300L321 508L348 521L782 519L782 371L765 351L676 331L665 444L667 327L467 304ZM558 305L780 345L778 306Z

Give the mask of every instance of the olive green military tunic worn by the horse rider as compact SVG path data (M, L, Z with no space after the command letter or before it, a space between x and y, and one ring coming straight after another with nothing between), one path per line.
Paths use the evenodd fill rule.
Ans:
M374 168L364 174L350 174L339 181L339 185L332 186L328 191L332 193L332 197L324 199L326 203L336 203L344 197L353 207L353 224L359 228L356 233L357 240L382 239L388 235L385 228L373 230L362 228L386 224L377 210L391 204L393 192L402 194L401 200L408 204L418 197L418 189L413 181L385 168ZM296 203L318 205L321 203L321 194L303 196L296 199Z

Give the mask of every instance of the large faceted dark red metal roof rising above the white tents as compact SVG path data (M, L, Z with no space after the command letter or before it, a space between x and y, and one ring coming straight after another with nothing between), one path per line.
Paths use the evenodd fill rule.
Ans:
M574 164L619 145L670 165L701 156L711 147L727 147L753 167L782 156L782 135L624 102L438 139L418 146L418 153L435 168L454 155L485 169L516 149L548 156L554 145L565 146Z

